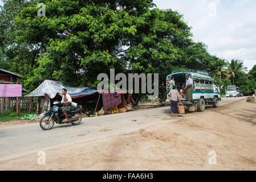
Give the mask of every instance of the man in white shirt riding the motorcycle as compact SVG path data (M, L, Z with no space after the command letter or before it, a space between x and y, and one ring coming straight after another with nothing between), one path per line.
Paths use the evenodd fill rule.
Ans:
M62 101L60 102L60 104L63 104L63 107L59 107L59 111L63 112L65 115L65 119L63 119L62 122L68 122L68 117L67 117L67 113L68 111L71 110L71 102L72 102L72 98L70 96L70 94L67 94L67 89L62 89Z

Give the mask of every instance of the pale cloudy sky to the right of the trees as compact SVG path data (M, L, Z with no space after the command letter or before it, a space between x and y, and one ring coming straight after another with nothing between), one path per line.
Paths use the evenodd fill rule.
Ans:
M193 40L222 59L243 60L249 71L256 64L255 0L153 0L159 9L184 15Z

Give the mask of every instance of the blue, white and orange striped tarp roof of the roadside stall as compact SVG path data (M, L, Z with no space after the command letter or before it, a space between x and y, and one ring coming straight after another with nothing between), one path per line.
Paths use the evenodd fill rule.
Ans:
M57 93L62 96L63 88L67 89L67 93L70 94L72 98L88 96L97 92L97 90L88 87L74 87L64 85L61 81L44 80L38 88L25 97L37 97L47 94L50 98L54 98Z

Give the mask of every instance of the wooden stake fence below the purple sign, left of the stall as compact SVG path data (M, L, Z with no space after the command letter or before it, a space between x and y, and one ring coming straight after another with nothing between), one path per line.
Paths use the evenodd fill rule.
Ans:
M9 110L16 110L17 97L1 97L0 98L0 111L1 113ZM21 111L36 110L40 111L43 108L42 98L33 97L18 97L18 109Z

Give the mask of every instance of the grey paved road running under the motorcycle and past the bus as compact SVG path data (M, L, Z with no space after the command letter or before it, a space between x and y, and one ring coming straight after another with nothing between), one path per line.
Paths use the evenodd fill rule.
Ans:
M222 98L220 106L245 99ZM207 106L212 107L212 106ZM210 109L210 108L209 108ZM186 116L193 114L189 113ZM132 121L136 119L136 121ZM54 125L51 130L40 129L39 124L0 129L0 160L39 151L58 144L78 142L79 140L108 137L111 135L131 133L157 122L178 122L182 119L170 117L169 106L131 111L103 117L83 118L78 126L71 124Z

